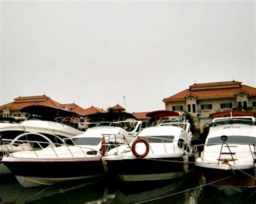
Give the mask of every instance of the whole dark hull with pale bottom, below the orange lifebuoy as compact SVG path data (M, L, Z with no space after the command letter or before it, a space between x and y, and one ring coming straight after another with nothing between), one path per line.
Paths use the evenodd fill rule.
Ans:
M187 163L177 158L107 160L107 171L123 181L157 181L182 177Z

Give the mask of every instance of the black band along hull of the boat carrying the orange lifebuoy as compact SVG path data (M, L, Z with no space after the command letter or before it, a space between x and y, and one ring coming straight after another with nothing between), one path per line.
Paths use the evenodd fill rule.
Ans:
M178 161L178 162L177 162ZM183 159L157 158L157 159L123 159L107 160L107 171L111 174L138 175L183 172Z

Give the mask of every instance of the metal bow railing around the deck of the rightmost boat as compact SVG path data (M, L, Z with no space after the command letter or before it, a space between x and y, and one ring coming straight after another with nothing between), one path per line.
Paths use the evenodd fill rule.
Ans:
M218 155L218 158L216 160L216 163L219 164L220 162L225 163L226 161L232 161L233 164L235 164L235 161L237 160L236 158L234 158L235 154L237 153L248 153L249 155L252 156L252 159L254 160L256 158L256 144L248 144L248 143L227 143L227 142L223 142L223 143L211 143L211 144L198 144L198 145L193 145L193 152L194 152L194 157L197 158L201 158L201 161L204 162L205 160L205 147L207 146L214 146L214 145L220 145L220 150L219 149L214 149L213 151L207 151L207 153L216 153L216 155ZM238 147L238 145L242 145L242 146L248 146L247 151L235 151L232 150L232 147ZM223 150L223 147L227 147L228 151ZM230 159L224 158L221 159L221 156L226 155L226 156L230 156Z

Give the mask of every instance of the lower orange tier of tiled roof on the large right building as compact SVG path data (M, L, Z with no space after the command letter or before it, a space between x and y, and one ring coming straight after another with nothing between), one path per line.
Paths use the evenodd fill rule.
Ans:
M235 97L235 95L239 92L246 92L248 93L248 96L256 96L256 88L241 85L239 87L233 87L233 88L214 88L214 89L201 89L201 90L191 90L191 89L185 89L182 92L170 96L166 99L164 99L164 102L169 101L183 101L185 100L186 96L192 94L197 97L197 100L203 100L203 99L219 99L219 98L228 98L228 97Z

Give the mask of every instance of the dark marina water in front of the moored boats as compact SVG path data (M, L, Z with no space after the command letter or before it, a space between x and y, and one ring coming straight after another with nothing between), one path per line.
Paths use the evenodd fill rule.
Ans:
M256 203L256 188L226 195L205 185L194 174L165 182L127 184L114 180L92 180L76 184L23 188L14 177L1 178L2 204L42 203Z

